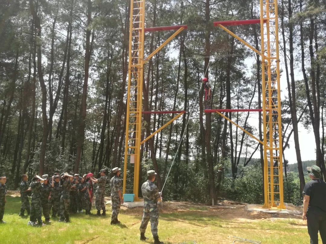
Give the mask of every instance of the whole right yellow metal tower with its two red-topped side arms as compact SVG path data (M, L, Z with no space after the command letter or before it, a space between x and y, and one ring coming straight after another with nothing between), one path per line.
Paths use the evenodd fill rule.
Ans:
M214 25L234 36L261 57L263 142L239 125L230 121L228 117L221 114L221 112L223 112L222 110L215 109L206 112L218 113L244 130L249 136L263 144L265 199L263 207L285 209L283 202L282 122L277 0L260 0L259 7L260 19L216 21ZM227 25L258 23L260 24L261 51L252 47L249 43L225 27ZM231 109L228 112L232 111L239 110ZM244 111L259 111L259 109Z

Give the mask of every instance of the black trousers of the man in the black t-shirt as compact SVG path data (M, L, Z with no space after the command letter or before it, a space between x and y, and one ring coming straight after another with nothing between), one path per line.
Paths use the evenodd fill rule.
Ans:
M326 244L326 212L307 212L307 226L310 244L318 244L318 232L323 244Z

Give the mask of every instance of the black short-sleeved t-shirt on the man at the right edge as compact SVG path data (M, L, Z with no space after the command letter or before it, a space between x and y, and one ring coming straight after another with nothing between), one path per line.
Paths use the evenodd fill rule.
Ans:
M326 183L323 180L315 179L307 182L303 194L310 196L309 211L326 212Z

